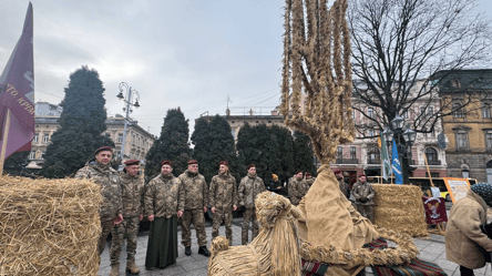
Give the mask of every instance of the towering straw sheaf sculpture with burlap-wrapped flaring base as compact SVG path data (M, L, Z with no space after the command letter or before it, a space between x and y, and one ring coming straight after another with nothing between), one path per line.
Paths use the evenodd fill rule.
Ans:
M418 254L409 235L377 229L362 217L342 195L330 170L338 145L355 137L347 7L347 0L335 1L330 9L327 0L286 0L280 105L285 124L309 135L321 162L318 177L299 204L304 215L299 236L307 242L301 257L345 265L344 270L375 263L401 264ZM362 249L379 236L397 242L398 248Z

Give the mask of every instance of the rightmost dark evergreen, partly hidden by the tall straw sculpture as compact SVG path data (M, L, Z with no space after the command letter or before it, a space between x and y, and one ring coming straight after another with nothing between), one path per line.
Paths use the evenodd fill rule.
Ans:
M294 166L295 170L316 173L311 140L303 132L294 132Z

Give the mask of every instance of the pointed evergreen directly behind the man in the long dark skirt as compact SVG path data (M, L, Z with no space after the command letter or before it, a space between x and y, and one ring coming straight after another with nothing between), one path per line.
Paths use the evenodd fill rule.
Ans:
M145 156L145 181L150 181L161 173L161 162L173 162L174 175L182 174L187 168L191 157L188 144L188 120L180 108L167 110L161 136L154 142Z

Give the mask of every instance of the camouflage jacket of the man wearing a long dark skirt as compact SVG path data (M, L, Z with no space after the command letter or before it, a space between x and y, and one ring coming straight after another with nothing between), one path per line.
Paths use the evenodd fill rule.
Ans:
M177 177L160 174L148 182L144 196L145 216L170 218L176 215L177 211L184 211L184 190Z

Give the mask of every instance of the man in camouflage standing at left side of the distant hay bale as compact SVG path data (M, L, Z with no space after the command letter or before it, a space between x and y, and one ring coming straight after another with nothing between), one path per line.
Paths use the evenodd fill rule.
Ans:
M375 190L370 183L366 182L365 174L359 175L359 181L353 184L352 194L356 197L356 206L360 215L367 217L371 223L375 223L372 216Z

